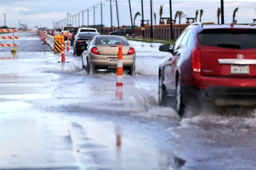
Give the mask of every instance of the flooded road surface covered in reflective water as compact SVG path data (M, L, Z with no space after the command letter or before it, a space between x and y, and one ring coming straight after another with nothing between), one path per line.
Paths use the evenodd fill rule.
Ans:
M180 119L158 106L160 44L133 42L136 73L95 75L54 54L36 33L0 51L0 170L252 170L255 110L196 108ZM190 116L194 115L196 116Z

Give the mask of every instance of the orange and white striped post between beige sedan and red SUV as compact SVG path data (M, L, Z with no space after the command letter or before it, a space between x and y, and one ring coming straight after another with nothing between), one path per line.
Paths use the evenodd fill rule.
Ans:
M123 98L123 52L122 42L118 43L116 98Z

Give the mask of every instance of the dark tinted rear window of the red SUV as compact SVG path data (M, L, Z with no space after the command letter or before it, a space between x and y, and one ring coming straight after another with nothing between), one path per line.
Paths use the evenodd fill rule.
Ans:
M205 29L198 34L198 40L213 47L256 48L256 29Z

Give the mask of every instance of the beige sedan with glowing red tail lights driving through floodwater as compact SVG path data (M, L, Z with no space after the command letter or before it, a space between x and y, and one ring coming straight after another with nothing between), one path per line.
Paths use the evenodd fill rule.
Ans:
M127 69L129 75L134 75L136 51L125 37L118 35L93 37L82 53L82 68L88 73L94 73L96 69L116 69L119 42L122 42L123 69Z

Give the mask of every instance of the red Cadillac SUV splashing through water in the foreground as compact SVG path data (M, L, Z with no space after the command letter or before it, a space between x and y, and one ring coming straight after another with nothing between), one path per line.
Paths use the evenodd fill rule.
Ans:
M256 27L188 26L159 66L160 105L180 116L191 102L218 106L256 105Z

